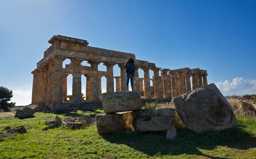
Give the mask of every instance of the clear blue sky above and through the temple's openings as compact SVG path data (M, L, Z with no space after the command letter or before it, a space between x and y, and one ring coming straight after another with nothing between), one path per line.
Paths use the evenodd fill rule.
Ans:
M0 0L0 15L0 85L18 105L31 102L31 71L53 35L134 53L161 68L206 69L224 95L256 94L255 0Z

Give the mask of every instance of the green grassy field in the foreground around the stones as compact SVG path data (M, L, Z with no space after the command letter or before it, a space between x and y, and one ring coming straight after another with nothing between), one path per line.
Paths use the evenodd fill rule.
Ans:
M79 117L83 112L67 113ZM94 111L93 113L100 113ZM88 115L88 114L87 114ZM96 126L71 130L66 126L46 130L47 119L55 114L35 113L34 118L0 118L4 127L23 125L27 133L0 142L0 159L256 159L256 119L238 116L238 128L195 134L181 128L174 140L165 136L117 131L100 136ZM58 114L61 119L66 118Z

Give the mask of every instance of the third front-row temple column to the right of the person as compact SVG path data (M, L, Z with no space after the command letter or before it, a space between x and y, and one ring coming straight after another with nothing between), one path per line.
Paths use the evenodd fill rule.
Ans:
M151 70L154 72L154 98L161 98L161 87L160 87L160 78L159 78L159 71L161 68L155 67Z

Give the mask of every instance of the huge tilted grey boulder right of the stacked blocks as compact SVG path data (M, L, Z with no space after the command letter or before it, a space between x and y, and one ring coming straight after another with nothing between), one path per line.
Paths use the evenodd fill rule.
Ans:
M172 103L183 124L196 133L237 127L230 103L215 84L175 97Z

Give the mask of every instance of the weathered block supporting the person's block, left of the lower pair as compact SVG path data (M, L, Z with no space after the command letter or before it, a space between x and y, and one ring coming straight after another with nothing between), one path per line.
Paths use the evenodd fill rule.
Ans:
M116 130L125 130L125 120L122 114L108 113L96 116L98 133L113 133Z

